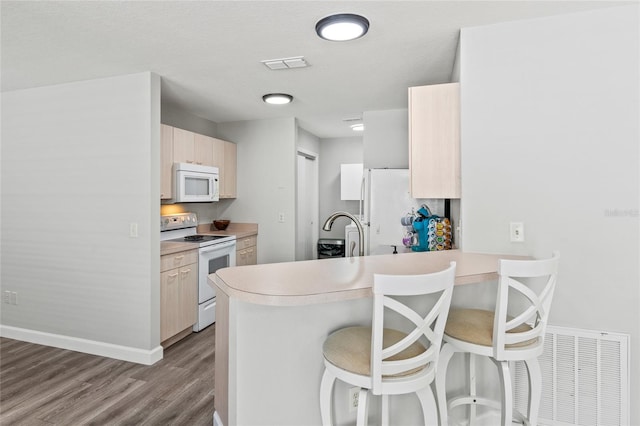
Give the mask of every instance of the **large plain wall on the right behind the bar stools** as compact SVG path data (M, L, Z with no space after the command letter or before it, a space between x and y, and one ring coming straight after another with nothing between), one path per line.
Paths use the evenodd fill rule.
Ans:
M550 322L631 335L640 400L639 8L464 29L465 251L561 252ZM509 222L525 225L509 242ZM632 403L630 424L640 424Z

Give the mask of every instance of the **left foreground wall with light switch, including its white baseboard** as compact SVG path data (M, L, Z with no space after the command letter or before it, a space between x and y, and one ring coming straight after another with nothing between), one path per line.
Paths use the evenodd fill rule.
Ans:
M159 131L151 73L2 94L2 335L161 357Z

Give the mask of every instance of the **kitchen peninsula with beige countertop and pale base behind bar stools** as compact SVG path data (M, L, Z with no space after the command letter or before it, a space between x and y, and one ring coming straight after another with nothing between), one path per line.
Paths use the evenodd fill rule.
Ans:
M218 294L215 423L319 425L322 343L335 329L370 324L374 273L425 274L455 261L456 285L472 284L495 281L500 258L519 256L450 250L272 263L210 275ZM340 385L336 415L355 418Z

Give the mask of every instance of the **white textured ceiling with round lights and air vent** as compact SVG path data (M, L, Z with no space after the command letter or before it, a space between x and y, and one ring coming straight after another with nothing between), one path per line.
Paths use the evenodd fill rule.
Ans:
M636 1L3 0L2 91L153 71L163 105L214 122L297 117L318 137L354 136L343 119L450 81L460 28ZM367 17L369 33L318 38L316 22L340 12ZM310 67L260 62L292 56ZM267 105L269 92L295 100Z

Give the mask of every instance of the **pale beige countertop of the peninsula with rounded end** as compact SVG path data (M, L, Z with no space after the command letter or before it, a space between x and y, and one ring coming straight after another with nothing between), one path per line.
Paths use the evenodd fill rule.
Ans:
M373 274L430 273L444 269L450 261L456 261L458 269L455 285L468 285L497 280L498 259L529 258L508 254L462 253L458 250L430 253L431 256L427 253L420 256L367 256L352 261L351 264L328 262L324 259L224 268L209 275L209 285L216 286L229 297L243 302L268 306L300 306L371 297ZM329 272L319 276L319 269ZM305 270L308 275L303 273ZM353 278L342 278L345 274L351 274ZM306 277L304 284L300 282L300 276ZM340 279L332 281L332 277ZM304 288L301 289L300 286Z

